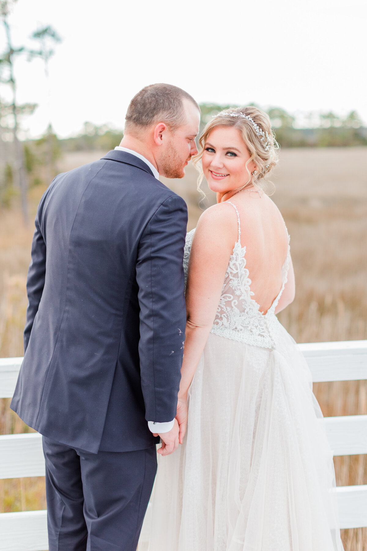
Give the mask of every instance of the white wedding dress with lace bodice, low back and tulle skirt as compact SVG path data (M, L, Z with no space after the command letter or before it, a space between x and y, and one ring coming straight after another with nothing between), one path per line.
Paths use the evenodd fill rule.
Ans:
M232 206L238 241L189 389L184 443L158 457L147 549L341 551L332 453L311 374L275 316L289 246L282 288L264 315L251 298Z

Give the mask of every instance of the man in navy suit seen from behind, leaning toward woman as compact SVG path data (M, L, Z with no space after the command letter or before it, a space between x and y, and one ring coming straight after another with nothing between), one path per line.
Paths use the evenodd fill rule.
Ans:
M182 178L200 110L143 88L119 147L59 174L35 220L12 409L43 435L50 551L135 551L174 419L185 329Z

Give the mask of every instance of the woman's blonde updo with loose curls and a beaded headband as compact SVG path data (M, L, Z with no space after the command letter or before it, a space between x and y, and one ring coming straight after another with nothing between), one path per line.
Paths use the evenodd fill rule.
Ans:
M275 191L275 186L267 180L272 169L278 162L277 149L279 144L275 139L275 134L271 128L270 118L264 111L258 107L235 107L234 109L225 109L212 117L212 120L207 123L204 131L199 138L199 152L193 157L193 164L200 172L198 178L198 191L205 195L200 188L204 173L202 172L200 160L204 151L204 146L209 134L214 128L221 126L233 126L237 128L246 145L250 158L246 163L248 172L248 180L244 183L246 187L251 181L256 190L263 190L268 195ZM248 169L248 164L254 161L256 172L251 174ZM266 191L267 185L270 183L272 191Z

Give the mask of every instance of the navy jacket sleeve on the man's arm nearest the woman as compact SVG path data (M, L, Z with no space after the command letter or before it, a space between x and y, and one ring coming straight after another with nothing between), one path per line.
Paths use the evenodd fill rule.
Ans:
M145 418L158 423L176 416L186 325L186 227L186 203L179 196L169 197L147 224L136 262Z

